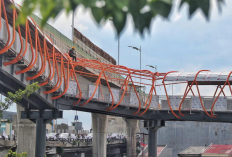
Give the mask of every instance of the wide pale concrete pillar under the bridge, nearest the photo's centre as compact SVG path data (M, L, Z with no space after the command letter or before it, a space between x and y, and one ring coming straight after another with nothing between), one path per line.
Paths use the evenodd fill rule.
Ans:
M92 113L93 157L106 157L106 124L108 116Z

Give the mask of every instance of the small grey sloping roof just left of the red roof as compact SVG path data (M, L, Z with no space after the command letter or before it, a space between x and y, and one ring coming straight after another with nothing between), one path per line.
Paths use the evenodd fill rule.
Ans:
M207 149L205 146L191 146L181 151L178 156L180 157L201 157L201 154Z

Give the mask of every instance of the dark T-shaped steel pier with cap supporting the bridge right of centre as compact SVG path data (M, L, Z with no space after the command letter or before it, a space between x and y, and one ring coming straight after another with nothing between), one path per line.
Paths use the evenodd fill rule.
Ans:
M165 126L165 121L144 121L144 127L148 129L148 156L157 157L157 131Z

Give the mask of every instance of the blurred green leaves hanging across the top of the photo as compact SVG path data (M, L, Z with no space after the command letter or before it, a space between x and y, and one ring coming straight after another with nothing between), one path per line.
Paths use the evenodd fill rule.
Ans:
M134 21L134 27L144 34L145 29L150 29L151 21L156 16L169 19L175 0L24 0L19 15L19 23L25 23L28 15L35 9L39 9L42 15L41 26L50 18L56 18L64 9L67 13L75 10L79 5L90 9L98 25L103 25L111 19L117 34L120 34L125 27L128 14ZM200 9L207 20L209 20L210 9L213 1L217 2L221 11L224 0L181 0L179 8L186 3L189 6L189 17L191 18L196 10Z

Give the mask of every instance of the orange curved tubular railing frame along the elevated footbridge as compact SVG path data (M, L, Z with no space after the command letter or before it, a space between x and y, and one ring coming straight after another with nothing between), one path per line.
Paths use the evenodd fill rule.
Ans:
M201 72L208 71L208 70L201 70L197 72L194 80L191 82L183 81L183 82L177 82L177 83L166 83L165 78L167 78L170 73L174 73L176 71L170 71L167 73L159 73L159 72L154 73L149 70L136 70L136 69L131 69L131 68L122 66L122 65L106 64L98 60L94 60L94 59L91 60L91 59L84 59L84 58L77 58L77 61L72 61L71 57L69 57L68 54L61 52L56 47L52 39L43 33L41 28L37 26L37 24L32 18L28 18L26 20L25 27L19 26L19 25L17 25L16 27L15 20L17 19L17 14L19 12L19 10L17 10L16 7L13 8L13 11L7 12L7 10L5 9L4 0L0 0L0 12L3 12L4 20L6 22L7 35L8 35L8 38L5 41L4 47L0 49L0 54L6 53L7 50L9 50L12 47L14 42L18 42L18 44L20 43L21 45L19 52L17 52L16 54L16 57L12 59L11 61L4 62L4 66L16 64L17 62L23 60L26 53L29 53L29 51L27 51L29 48L28 46L28 41L29 41L30 49L31 49L29 58L31 59L29 59L28 61L29 64L27 65L27 67L22 70L16 71L16 74L22 74L22 73L28 72L33 67L35 67L35 65L37 64L37 61L39 60L39 65L37 64L38 70L35 71L36 73L33 76L26 77L26 80L29 81L29 80L38 79L40 80L40 84L39 84L40 86L48 85L49 82L53 81L54 84L51 85L47 91L44 91L44 94L51 94L51 93L56 92L55 93L56 95L54 95L52 99L58 99L65 95L65 93L69 89L70 79L71 79L72 81L75 80L74 82L76 83L77 89L79 92L75 95L75 97L78 98L78 100L73 105L84 106L93 99L95 93L97 92L98 87L100 87L101 99L102 100L104 99L103 89L102 89L102 86L104 83L104 85L107 86L109 96L112 98L111 104L106 109L107 111L112 111L115 108L117 108L124 100L124 97L128 96L130 92L133 92L135 93L134 99L138 100L138 105L136 106L137 111L134 112L133 114L134 115L138 114L139 116L142 116L151 108L151 103L152 103L152 99L154 98L154 95L157 96L156 87L161 86L164 88L167 103L168 103L168 106L172 114L176 118L179 119L181 118L180 116L184 116L184 114L181 112L181 107L182 107L184 100L188 96L189 92L191 91L192 95L195 96L193 89L192 89L194 85L197 88L198 96L199 96L203 111L212 118L216 117L213 114L214 105L216 104L216 101L218 100L219 96L222 93L223 95L225 95L223 90L226 85L229 86L230 93L232 95L232 89L230 86L230 76L232 72L230 72L227 76L226 81L224 82L223 87L221 87L221 85L218 84L214 97L216 96L218 88L221 88L221 90L218 93L216 99L213 101L213 104L211 107L211 114L209 114L203 105L201 95L200 95L200 90L198 87L199 82L197 81L198 75ZM12 22L10 23L13 25L13 32L10 31L8 19L12 20ZM2 21L0 21L0 28L2 28ZM18 39L15 38L16 31L19 34L20 41L17 41ZM12 33L13 33L13 37L11 40L10 38L11 38ZM23 43L22 34L25 34L24 35L25 43ZM47 74L48 71L46 71L46 68L48 68L49 70L48 74ZM40 76L43 76L42 79L39 79ZM80 101L82 100L83 94L82 94L82 89L81 89L81 83L78 78L79 76L88 77L95 81L95 88L93 89L93 93L91 93L92 95L90 95L88 99L85 99L86 101L84 103L80 103ZM141 81L136 81L137 79ZM156 84L159 81L161 83ZM180 104L178 106L178 111L180 115L179 116L177 115L177 113L175 113L174 109L171 106L166 86L170 84L174 85L174 84L180 84L180 83L187 83L187 86L184 91L182 100L180 101ZM121 97L120 99L118 99L117 103L115 103L116 99L114 98L114 93L111 88L112 87L111 84L114 84L115 88L118 88L118 90L121 90L122 92ZM141 99L141 86L146 87L148 91L147 96L144 96L144 100ZM63 90L60 92L61 88L63 88ZM139 92L138 92L138 89L139 89ZM161 109L159 102L158 102L158 109Z

